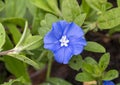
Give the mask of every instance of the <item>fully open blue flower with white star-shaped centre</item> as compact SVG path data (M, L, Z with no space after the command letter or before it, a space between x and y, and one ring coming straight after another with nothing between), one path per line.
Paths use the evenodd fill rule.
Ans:
M55 60L67 64L73 55L78 55L86 45L83 30L73 22L58 21L44 37L44 48L54 53Z

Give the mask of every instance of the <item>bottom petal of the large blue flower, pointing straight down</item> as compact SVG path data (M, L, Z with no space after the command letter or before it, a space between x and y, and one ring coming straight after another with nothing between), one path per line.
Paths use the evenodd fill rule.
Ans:
M72 50L69 47L62 47L54 53L54 56L57 62L68 64L72 57Z

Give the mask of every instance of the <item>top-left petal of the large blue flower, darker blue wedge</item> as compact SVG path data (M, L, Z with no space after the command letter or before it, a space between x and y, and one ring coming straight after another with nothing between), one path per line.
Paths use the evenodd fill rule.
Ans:
M55 34L57 39L61 38L63 30L67 26L67 24L68 23L66 21L59 21L52 24L53 33Z

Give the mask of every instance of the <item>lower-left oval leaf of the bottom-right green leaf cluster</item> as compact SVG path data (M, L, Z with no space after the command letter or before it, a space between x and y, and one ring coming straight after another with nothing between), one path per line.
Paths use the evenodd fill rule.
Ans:
M95 79L90 74L82 72L76 75L75 80L80 82L89 82L94 81Z

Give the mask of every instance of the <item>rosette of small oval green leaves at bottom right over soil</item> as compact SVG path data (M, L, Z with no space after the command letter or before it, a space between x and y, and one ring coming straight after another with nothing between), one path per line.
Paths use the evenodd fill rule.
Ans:
M110 55L109 53L105 53L97 63L91 57L85 58L82 63L82 71L76 75L76 80L81 82L88 81L101 81L101 80L113 80L118 77L117 70L110 70L106 72L106 68L109 64ZM99 80L100 79L100 80Z

